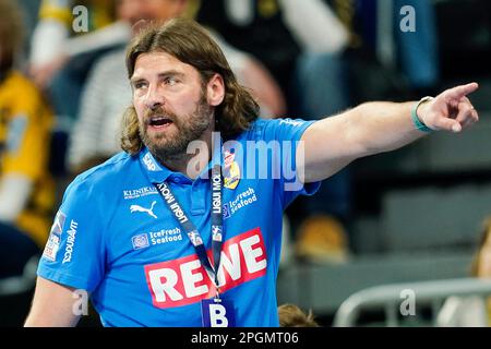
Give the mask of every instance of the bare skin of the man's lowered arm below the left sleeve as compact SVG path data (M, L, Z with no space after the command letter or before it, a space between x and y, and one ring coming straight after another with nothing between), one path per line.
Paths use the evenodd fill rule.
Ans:
M77 301L73 288L38 277L31 312L24 326L74 327L80 320L74 311Z

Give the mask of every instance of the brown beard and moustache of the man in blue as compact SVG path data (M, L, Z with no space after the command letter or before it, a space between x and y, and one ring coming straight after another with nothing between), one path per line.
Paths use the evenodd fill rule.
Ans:
M207 104L204 94L196 104L196 108L188 116L180 116L166 111L158 107L145 112L143 121L140 120L140 137L143 144L160 163L165 160L180 159L187 155L188 145L195 140L199 140L203 133L209 129L212 123L213 108ZM147 133L149 120L154 116L164 116L166 119L172 121L177 132L168 134L161 132L159 134ZM172 125L170 125L172 127Z

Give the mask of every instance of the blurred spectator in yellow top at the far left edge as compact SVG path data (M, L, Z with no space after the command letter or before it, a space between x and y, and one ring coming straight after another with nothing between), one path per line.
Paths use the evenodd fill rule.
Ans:
M52 115L14 70L22 23L16 3L0 0L0 278L21 274L40 252L55 200L47 170Z

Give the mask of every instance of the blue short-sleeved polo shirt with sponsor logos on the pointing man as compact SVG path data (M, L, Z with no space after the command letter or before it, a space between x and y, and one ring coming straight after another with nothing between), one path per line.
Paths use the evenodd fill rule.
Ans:
M237 326L278 326L283 210L320 185L295 178L297 143L311 123L258 120L223 144L218 280ZM153 183L167 181L209 252L208 173L191 180L145 148L80 174L64 193L38 275L91 292L105 326L201 326L200 301L214 296L214 284Z

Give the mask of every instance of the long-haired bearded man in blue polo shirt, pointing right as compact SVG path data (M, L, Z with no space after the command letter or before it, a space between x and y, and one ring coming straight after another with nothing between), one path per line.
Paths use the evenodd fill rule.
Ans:
M472 83L316 122L258 120L217 45L185 20L142 31L127 68L124 152L68 188L27 326L75 325L83 292L105 326L278 326L283 209L356 158L478 119Z

